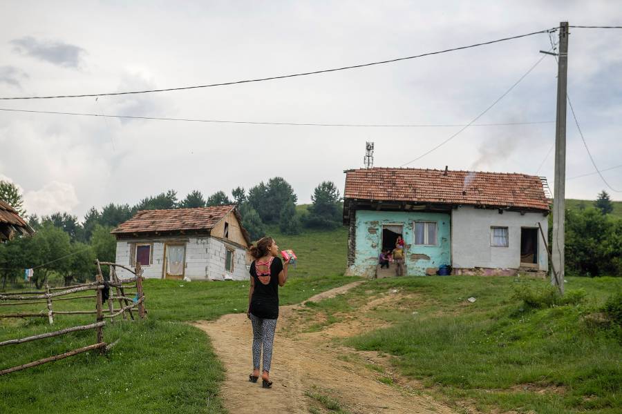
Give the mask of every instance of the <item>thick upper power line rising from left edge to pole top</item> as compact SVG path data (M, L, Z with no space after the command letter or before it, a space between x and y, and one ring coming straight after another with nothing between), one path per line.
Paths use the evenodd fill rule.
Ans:
M469 46L460 46L458 48L438 50L436 52L427 52L427 53L422 53L421 55L414 55L414 56L408 56L408 57L398 57L396 59L389 59L389 60L384 60L384 61L375 61L375 62L370 62L370 63L361 63L359 65L343 66L341 68L332 68L332 69L314 70L312 72L294 73L292 75L272 76L272 77L257 78L257 79L246 79L246 80L243 80L243 81L230 81L230 82L223 82L223 83L210 83L208 85L183 86L183 87L179 87L179 88L134 90L134 91L130 91L130 92L91 93L91 94L81 94L81 95L53 95L53 96L42 96L42 97L0 97L0 99L2 99L2 100L9 100L9 99L56 99L56 98L103 97L103 96L113 96L113 95L132 95L132 94L151 93L151 92L170 92L172 90L188 90L188 89L198 89L198 88L212 88L214 86L236 85L238 83L272 81L274 79L285 79L285 78L290 78L290 77L317 75L319 73L337 72L338 70L348 70L348 69L364 68L366 66L383 65L385 63L393 63L393 62L403 61L403 60L408 60L408 59L417 59L418 57L425 57L425 56L431 56L431 55L440 55L441 53L455 52L456 50L464 50L464 49L469 49L469 48L475 48L475 47L478 47L478 46L485 46L485 45L490 45L490 44L493 44L493 43L499 43L501 41L520 39L521 37L533 36L534 34L554 32L555 30L557 30L557 28L538 30L538 32L519 34L518 36L505 37L503 39L496 39L496 40L491 40L491 41L484 41L482 43L475 43L475 44L469 45Z

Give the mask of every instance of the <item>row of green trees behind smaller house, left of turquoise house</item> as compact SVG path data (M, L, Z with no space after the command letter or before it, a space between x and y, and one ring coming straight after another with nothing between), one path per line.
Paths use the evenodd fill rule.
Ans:
M238 186L231 196L220 190L205 198L199 190L178 199L176 190L145 197L134 206L110 203L98 209L91 207L82 221L70 213L28 215L15 184L0 181L0 199L8 202L36 230L34 237L17 237L0 244L0 288L15 282L24 268L35 268L35 285L41 288L52 273L61 275L65 284L84 282L95 274L93 262L114 262L116 241L110 231L129 220L139 210L168 210L207 206L238 206L242 225L253 240L263 237L266 226L278 226L282 233L295 235L307 228L335 228L341 223L339 190L330 181L314 189L307 212L296 209L298 198L292 186L282 177L245 190ZM59 259L63 257L63 259Z

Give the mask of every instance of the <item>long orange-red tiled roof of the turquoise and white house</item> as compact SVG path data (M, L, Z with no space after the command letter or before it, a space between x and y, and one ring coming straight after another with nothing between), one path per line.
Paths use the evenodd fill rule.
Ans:
M549 210L540 177L505 172L419 168L347 170L343 197Z

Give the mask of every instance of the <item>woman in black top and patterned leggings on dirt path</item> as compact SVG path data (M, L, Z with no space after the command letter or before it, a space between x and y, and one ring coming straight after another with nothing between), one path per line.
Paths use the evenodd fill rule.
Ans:
M253 326L253 373L248 380L257 382L259 378L259 359L263 348L261 386L271 388L270 363L276 319L279 317L279 286L288 281L289 261L285 264L281 262L279 246L272 237L263 237L248 251L255 258L249 270L251 283L246 311Z

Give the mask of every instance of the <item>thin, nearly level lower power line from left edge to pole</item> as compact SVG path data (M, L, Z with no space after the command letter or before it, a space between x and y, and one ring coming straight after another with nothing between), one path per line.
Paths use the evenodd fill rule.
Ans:
M348 126L358 128L438 128L438 127L456 127L465 124L316 124L316 123L298 123L298 122L268 122L268 121L228 121L224 119L191 119L191 118L165 118L165 117L133 117L129 115L105 115L93 114L85 112L57 112L51 110L26 110L13 108L0 108L6 112L27 112L35 114L50 115L73 115L79 117L104 117L104 118L121 118L121 119L147 119L157 121L185 121L185 122L211 122L214 124L251 124L251 125L285 125L285 126ZM552 124L555 121L531 121L531 122L501 122L491 124L471 124L471 126L513 126L513 125L536 125L536 124Z

